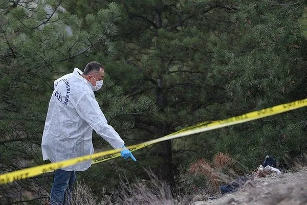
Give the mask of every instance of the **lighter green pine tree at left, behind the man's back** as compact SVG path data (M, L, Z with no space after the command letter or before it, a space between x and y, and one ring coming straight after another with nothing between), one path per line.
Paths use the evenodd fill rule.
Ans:
M81 69L98 49L112 55L111 39L121 17L115 3L79 18L56 0L2 0L0 11L0 167L5 173L43 164L41 135L54 79L71 73L74 67ZM100 103L111 97L121 102L122 91L112 86L111 79L104 89L109 94ZM47 200L51 176L1 186L1 204Z

